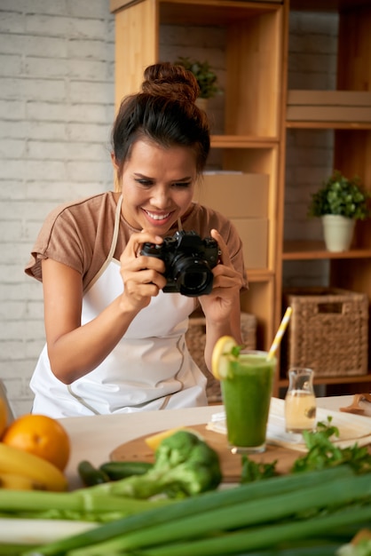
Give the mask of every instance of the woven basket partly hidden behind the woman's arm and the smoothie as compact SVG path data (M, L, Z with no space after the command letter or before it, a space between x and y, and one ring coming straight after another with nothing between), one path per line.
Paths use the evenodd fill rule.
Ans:
M244 345L248 349L257 347L257 317L254 314L241 313L241 334ZM222 401L219 381L209 372L205 360L204 350L206 342L206 324L204 317L191 317L186 332L186 345L193 360L208 378L206 394L208 401L215 403Z

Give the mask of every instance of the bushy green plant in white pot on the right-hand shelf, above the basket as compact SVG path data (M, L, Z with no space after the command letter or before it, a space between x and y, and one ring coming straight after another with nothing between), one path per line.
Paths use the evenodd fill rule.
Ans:
M312 195L309 216L322 219L328 250L343 251L350 248L356 220L371 216L369 199L370 195L358 177L348 179L337 170Z

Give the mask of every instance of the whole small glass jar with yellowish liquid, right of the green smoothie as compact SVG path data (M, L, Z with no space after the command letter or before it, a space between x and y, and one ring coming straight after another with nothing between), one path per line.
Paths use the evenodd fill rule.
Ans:
M316 425L316 397L313 369L293 367L288 370L288 392L285 397L287 433L312 431Z

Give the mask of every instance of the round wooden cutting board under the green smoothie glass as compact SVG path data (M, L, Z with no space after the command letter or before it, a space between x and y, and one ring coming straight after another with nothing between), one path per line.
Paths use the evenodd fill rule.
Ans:
M232 454L228 448L225 434L209 431L206 425L193 425L189 428L201 433L209 446L217 451L224 482L239 482L241 479L241 455ZM141 436L133 441L121 444L110 454L110 459L113 461L154 462L154 452L146 445L145 438L145 436ZM297 450L267 445L265 452L249 457L264 464L272 463L277 459L277 473L285 474L289 472L296 458L303 455L303 452Z

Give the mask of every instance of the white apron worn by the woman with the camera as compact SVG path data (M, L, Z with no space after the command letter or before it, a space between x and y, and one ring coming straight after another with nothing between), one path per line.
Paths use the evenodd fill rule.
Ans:
M83 296L82 324L122 293L120 264L114 259L121 204L122 198L107 260ZM105 361L72 385L53 375L44 346L30 382L33 413L59 418L207 405L206 377L186 348L193 309L194 298L160 291Z

